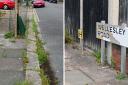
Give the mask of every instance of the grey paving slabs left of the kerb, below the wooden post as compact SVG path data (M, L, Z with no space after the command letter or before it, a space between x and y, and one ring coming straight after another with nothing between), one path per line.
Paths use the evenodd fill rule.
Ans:
M0 85L14 85L25 78L22 62L25 41L11 42L3 35L0 34Z

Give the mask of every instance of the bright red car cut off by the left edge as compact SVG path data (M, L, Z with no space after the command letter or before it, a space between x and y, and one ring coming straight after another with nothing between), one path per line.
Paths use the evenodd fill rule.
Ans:
M14 9L15 1L14 0L0 0L0 9Z

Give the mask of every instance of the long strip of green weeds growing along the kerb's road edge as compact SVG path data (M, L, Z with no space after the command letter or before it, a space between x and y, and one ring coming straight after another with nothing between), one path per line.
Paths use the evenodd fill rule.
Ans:
M45 49L43 47L44 43L38 37L39 32L37 30L37 24L36 24L34 18L32 20L32 25L33 25L32 30L35 33L35 37L36 37L36 46L37 46L36 53L38 55L38 60L39 60L40 65L44 65L48 62L48 53L45 51ZM45 70L43 68L41 68L41 70L40 70L40 77L42 80L42 85L51 85L50 77L47 74L48 71L49 71L48 67L47 67L47 70Z

